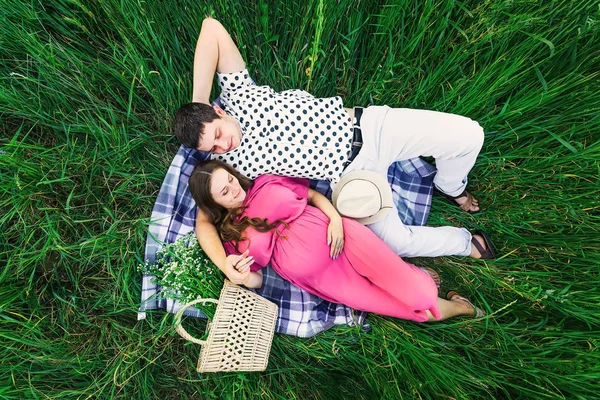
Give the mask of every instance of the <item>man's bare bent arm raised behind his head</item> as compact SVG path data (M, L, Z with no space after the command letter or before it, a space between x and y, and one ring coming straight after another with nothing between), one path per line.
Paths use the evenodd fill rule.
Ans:
M206 18L202 22L194 54L192 101L210 104L215 72L238 72L245 68L246 63L227 30L216 19Z

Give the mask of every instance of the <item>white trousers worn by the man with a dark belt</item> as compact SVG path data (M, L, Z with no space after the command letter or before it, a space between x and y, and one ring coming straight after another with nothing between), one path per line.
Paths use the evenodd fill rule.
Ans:
M435 186L457 196L467 185L467 175L483 145L483 129L467 117L436 111L371 106L360 122L363 147L344 171L369 170L387 180L389 166L419 156L435 158ZM392 250L404 257L471 254L471 234L450 226L406 226L398 210L368 225Z

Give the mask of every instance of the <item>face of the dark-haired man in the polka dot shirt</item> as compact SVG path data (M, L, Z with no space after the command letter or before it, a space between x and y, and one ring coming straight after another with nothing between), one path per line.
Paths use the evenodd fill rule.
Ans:
M214 154L227 153L238 147L242 141L242 132L237 120L215 106L215 112L221 117L204 124L204 133L197 150Z

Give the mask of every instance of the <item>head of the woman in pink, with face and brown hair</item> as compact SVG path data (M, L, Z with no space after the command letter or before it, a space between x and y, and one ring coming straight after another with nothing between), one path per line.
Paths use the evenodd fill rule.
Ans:
M196 165L189 184L198 207L216 224L242 206L252 181L226 163L210 160Z

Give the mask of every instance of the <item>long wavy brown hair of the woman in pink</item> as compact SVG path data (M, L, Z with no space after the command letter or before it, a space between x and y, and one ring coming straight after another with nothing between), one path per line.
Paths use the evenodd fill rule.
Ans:
M217 204L210 193L210 182L213 171L219 168L235 176L246 193L248 193L248 189L252 187L254 182L220 160L201 161L192 171L189 180L192 197L198 208L204 212L209 221L217 228L223 242L233 241L236 250L238 250L238 244L246 240L243 232L250 226L258 232L268 232L277 228L279 224L288 227L288 224L281 220L269 223L267 219L263 218L249 218L248 216L239 218L244 212L243 207L227 209ZM277 232L277 235L283 237L279 232Z

